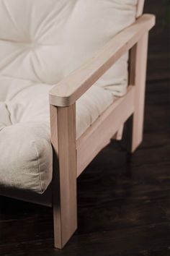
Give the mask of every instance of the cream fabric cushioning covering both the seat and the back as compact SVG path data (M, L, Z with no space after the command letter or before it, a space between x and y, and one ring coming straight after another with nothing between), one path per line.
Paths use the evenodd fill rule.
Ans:
M48 92L135 21L138 0L0 1L0 186L52 179ZM126 93L128 54L76 103L76 137Z

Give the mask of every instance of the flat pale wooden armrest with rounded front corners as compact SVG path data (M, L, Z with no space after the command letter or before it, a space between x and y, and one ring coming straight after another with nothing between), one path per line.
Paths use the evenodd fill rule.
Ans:
M84 66L76 69L50 90L50 104L64 107L75 103L153 25L155 16L143 14L133 25L115 35Z

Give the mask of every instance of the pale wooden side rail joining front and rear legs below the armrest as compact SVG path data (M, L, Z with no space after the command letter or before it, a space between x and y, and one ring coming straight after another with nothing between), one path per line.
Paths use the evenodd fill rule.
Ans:
M118 98L109 108L86 130L76 142L77 176L92 161L109 140L133 114L135 87L129 86L128 93Z

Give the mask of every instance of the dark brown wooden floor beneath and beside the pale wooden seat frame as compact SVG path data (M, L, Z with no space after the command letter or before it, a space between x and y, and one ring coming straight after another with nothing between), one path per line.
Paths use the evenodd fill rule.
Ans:
M0 197L0 255L170 255L168 0L146 1L157 15L151 33L144 140L130 158L112 142L78 179L79 229L53 249L50 208Z

